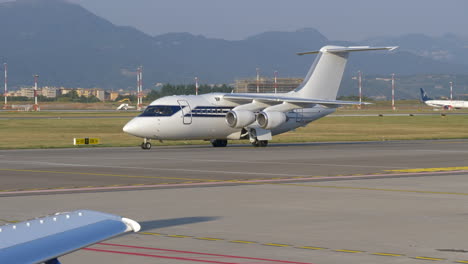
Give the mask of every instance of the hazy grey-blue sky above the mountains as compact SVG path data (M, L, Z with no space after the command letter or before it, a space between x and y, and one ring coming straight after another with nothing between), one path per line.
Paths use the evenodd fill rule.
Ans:
M5 1L5 0L0 0ZM468 36L466 0L68 0L150 35L190 32L243 39L313 27L332 40L381 35Z

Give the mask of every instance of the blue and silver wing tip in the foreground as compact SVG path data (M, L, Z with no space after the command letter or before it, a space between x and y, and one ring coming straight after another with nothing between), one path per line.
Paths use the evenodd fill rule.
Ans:
M140 225L127 218L79 210L0 226L0 263L58 263L58 257Z

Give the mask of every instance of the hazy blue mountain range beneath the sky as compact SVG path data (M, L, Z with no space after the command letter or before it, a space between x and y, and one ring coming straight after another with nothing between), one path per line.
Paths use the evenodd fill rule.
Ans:
M170 21L168 21L170 23ZM147 35L116 26L64 0L17 0L0 4L0 63L10 86L134 87L143 66L145 88L155 83L232 83L252 78L256 68L271 77L303 77L313 56L296 52L324 45L398 45L397 52L353 54L346 75L361 70L389 76L468 72L468 41L455 35L379 37L360 43L329 40L316 29L265 32L244 40L210 39L189 33ZM164 25L154 25L164 27Z

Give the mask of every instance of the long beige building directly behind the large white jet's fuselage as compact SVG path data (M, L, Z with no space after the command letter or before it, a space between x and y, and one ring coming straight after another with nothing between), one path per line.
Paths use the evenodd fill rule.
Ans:
M302 83L301 78L277 78L277 92L286 93L297 88ZM275 80L273 78L260 78L258 81L260 93L274 93ZM256 93L257 79L236 80L236 93Z

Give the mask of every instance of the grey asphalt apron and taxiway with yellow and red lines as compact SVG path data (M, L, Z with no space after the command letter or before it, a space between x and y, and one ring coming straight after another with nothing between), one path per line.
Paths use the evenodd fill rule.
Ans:
M63 263L468 263L468 140L0 151L0 223L143 230Z

